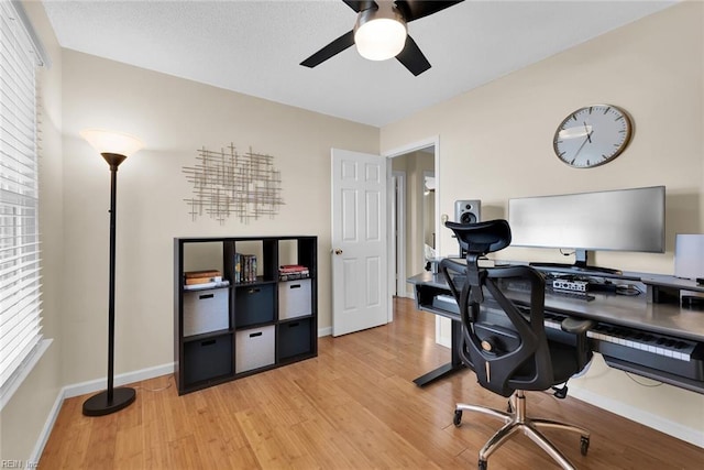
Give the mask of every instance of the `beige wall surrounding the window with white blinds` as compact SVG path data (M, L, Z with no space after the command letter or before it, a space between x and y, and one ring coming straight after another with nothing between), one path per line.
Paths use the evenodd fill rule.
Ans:
M40 231L42 233L42 308L44 337L54 341L0 414L0 460L29 459L64 382L61 378L63 171L62 52L37 2L23 3L51 68L37 70L40 125Z

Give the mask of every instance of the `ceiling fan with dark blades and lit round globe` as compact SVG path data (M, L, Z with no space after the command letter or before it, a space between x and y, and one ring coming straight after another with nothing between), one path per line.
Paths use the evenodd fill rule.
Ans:
M406 24L463 0L342 1L358 12L354 29L332 41L300 65L312 68L355 44L363 57L371 61L396 57L411 74L418 76L430 68L430 63L408 34Z

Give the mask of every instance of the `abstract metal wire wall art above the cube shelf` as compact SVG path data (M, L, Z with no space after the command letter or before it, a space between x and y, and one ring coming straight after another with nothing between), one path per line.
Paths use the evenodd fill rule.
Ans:
M219 152L198 150L195 166L184 166L193 184L193 197L184 199L196 220L209 216L220 223L230 216L249 223L265 215L274 218L284 204L280 197L282 174L274 168L274 157L252 152L239 153L234 144Z

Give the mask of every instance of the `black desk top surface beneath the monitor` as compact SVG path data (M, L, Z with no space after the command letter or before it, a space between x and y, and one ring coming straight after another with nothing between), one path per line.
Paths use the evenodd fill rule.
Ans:
M449 292L442 274L424 272L409 277L407 282ZM527 293L507 291L506 295L518 303L528 300ZM678 304L648 303L645 293L637 296L600 293L592 295L596 298L586 302L546 293L546 309L644 331L704 341L704 311L702 310L681 308Z

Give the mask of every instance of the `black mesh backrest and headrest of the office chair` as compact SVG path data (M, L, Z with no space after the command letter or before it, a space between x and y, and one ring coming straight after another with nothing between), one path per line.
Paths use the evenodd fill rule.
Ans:
M479 266L481 256L510 244L506 220L446 226L468 253L465 263L450 259L440 263L460 307L462 360L482 386L503 396L515 390L549 389L554 382L543 325L544 277L525 265ZM501 285L508 281L529 289L529 309L521 311L504 295Z

